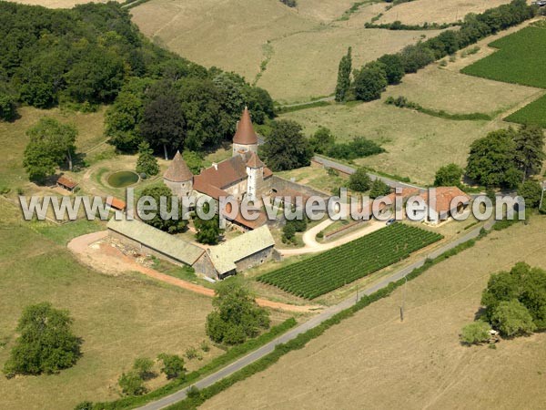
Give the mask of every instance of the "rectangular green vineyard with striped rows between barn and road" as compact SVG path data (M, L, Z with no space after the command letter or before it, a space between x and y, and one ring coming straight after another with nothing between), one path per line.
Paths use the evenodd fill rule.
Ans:
M439 233L395 223L308 260L268 272L258 281L314 299L402 261L441 238Z

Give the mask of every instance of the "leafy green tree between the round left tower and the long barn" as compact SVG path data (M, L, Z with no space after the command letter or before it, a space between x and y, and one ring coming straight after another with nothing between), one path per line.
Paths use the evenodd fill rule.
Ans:
M148 225L153 226L161 231L169 233L176 233L184 231L187 227L187 220L183 219L182 215L182 203L178 200L173 200L173 192L168 189L167 185L159 183L157 185L150 185L142 190L140 198L150 197L155 200L157 204L156 215L151 220L144 220ZM161 198L164 199L166 204L166 211L171 212L174 206L178 207L178 215L172 219L164 219L160 214ZM139 199L140 200L140 199ZM142 210L139 210L142 215Z

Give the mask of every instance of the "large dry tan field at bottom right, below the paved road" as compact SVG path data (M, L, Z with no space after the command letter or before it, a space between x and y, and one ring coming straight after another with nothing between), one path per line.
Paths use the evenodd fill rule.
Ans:
M546 218L494 232L199 408L542 408L546 333L496 350L459 343L491 272L546 269Z

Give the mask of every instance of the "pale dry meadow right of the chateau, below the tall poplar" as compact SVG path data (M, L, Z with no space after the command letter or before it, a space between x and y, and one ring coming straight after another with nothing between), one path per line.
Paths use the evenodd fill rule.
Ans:
M387 152L355 162L422 184L432 183L442 165L466 165L470 143L498 126L486 121L430 117L387 106L383 100L311 108L281 118L298 121L308 135L323 126L330 128L339 141L358 136L378 141Z

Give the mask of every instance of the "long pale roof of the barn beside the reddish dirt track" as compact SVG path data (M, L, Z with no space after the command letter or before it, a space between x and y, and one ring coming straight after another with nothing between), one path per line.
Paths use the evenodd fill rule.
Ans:
M108 221L106 227L190 266L205 252L204 249L193 243L178 239L167 232L159 231L140 220L116 220L112 218Z

